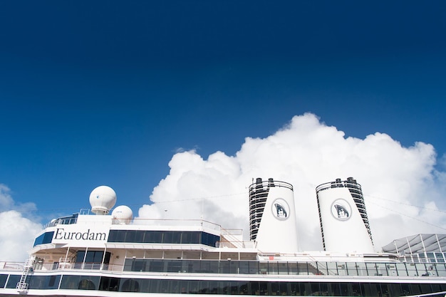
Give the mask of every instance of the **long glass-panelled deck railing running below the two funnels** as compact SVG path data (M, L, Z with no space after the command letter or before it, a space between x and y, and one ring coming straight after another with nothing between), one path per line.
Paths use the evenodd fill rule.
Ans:
M446 276L445 264L365 263L365 262L293 262L293 261L219 261L180 259L125 260L124 271L163 273L247 273L305 276Z

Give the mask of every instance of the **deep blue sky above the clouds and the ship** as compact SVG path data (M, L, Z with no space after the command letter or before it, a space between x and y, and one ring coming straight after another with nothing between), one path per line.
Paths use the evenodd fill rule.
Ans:
M306 112L446 152L444 1L1 1L0 28L0 184L42 222L101 184L136 212L176 152Z

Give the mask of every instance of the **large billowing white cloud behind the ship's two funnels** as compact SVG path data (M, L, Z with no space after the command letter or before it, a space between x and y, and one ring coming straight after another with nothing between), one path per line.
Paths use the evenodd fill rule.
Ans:
M437 205L445 172L435 170L434 147L403 147L381 132L348 137L311 113L295 116L265 138L247 137L234 156L177 152L170 173L153 190L140 218L204 219L248 230L247 187L256 177L294 186L301 250L322 249L315 188L354 177L363 187L375 247L418 233L444 233Z

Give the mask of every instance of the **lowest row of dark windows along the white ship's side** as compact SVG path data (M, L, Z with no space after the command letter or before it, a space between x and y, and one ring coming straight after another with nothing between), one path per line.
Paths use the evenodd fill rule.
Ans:
M0 275L1 288L16 288L20 275ZM61 280L62 278L62 280ZM7 283L6 283L7 280ZM28 276L29 289L100 290L144 293L289 296L411 296L446 291L434 283L333 283L296 281L202 281L106 276ZM6 285L6 286L5 286Z

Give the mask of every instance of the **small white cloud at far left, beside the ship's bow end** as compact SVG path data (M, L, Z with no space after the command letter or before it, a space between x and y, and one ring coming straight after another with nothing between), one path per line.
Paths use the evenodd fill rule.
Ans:
M0 184L0 261L20 261L28 258L37 232L42 229L36 219L24 217L24 213L35 210L33 203L16 204L11 190Z

